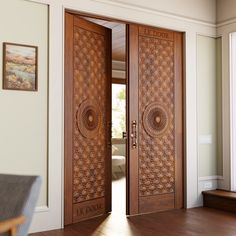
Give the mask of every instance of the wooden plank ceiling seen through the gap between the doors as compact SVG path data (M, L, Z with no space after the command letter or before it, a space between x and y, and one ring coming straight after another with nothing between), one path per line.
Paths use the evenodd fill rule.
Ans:
M112 30L112 60L125 61L125 24L84 17Z

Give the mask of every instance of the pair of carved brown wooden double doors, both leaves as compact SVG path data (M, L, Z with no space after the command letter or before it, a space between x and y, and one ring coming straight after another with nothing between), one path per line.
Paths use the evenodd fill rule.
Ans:
M111 211L111 30L66 13L65 224ZM183 207L182 34L127 26L127 214Z

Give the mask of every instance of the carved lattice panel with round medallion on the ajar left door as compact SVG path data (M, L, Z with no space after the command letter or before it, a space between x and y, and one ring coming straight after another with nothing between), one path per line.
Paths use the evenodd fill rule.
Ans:
M73 203L104 196L105 86L104 36L75 27Z

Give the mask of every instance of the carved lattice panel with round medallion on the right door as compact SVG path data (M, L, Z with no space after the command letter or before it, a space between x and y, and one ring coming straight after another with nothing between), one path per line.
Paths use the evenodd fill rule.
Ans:
M174 42L139 36L139 195L175 186Z

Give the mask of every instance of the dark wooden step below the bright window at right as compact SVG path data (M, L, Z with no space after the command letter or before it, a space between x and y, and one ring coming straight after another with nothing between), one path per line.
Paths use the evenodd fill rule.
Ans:
M236 213L236 192L216 189L203 191L203 206Z

